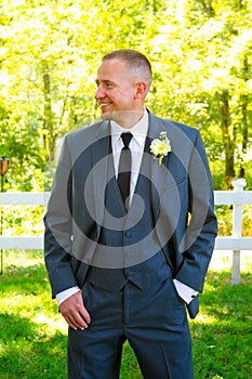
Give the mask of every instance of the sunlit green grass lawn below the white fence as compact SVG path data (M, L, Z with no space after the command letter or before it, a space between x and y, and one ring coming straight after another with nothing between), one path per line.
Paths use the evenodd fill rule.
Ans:
M241 284L230 285L230 252L214 253L190 321L196 379L252 378L251 254L242 252ZM51 300L42 252L4 251L0 283L0 379L65 379L67 326ZM142 378L129 344L120 378Z

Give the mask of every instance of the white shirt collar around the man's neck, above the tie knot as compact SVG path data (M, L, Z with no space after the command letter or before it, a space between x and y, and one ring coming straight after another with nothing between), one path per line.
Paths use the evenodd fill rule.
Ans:
M115 143L117 143L121 136L121 133L131 132L135 142L142 145L146 139L148 131L148 113L145 109L143 117L132 128L124 129L120 127L116 121L111 120L111 136Z

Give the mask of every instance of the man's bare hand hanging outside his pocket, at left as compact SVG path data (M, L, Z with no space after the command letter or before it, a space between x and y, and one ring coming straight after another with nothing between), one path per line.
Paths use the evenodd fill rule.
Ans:
M81 290L63 301L58 309L67 324L72 329L84 330L88 328L91 318L89 312L84 308Z

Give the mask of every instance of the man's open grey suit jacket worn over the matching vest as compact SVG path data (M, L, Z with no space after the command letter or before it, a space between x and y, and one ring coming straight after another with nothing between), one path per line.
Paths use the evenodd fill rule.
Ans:
M172 151L159 166L149 144L167 131ZM104 220L104 193L109 180L109 121L102 121L66 135L58 159L48 211L44 217L44 257L52 295L82 286ZM155 186L150 201L155 213L154 233L137 246L128 246L125 265L151 257L158 240L173 277L202 291L216 237L213 192L208 160L198 130L149 114L149 129L141 173ZM124 228L137 219L138 198L133 197ZM115 220L114 226L118 227ZM120 224L120 222L119 222ZM121 226L119 226L121 227ZM137 247L137 260L135 248ZM132 250L132 251L131 251ZM95 264L118 267L105 259ZM112 256L115 257L115 256ZM189 304L190 316L198 312L198 297Z

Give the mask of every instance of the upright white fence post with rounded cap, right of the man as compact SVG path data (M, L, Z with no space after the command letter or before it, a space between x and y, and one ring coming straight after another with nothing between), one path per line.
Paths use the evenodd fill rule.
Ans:
M243 178L231 182L234 192L242 192L247 182ZM242 204L235 204L233 209L233 236L240 238L242 235ZM231 284L240 283L240 250L233 251Z

